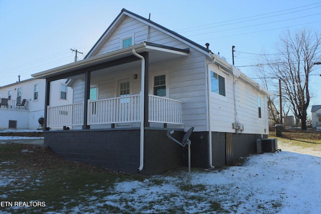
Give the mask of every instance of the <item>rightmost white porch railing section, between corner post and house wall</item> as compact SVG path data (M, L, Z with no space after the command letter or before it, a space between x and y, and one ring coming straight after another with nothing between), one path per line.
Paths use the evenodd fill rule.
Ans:
M182 124L182 103L166 97L149 96L148 122Z

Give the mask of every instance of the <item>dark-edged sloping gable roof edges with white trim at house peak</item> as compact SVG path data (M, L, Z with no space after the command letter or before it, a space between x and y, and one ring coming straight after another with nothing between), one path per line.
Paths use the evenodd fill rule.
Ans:
M98 41L95 43L95 45L86 54L84 59L87 59L87 58L95 56L97 54L97 52L99 51L99 49L101 48L100 45L102 43L105 43L109 39L109 37L112 36L113 32L118 28L118 26L121 24L121 22L127 16L131 17L133 19L136 19L136 20L138 20L138 21L140 21L140 22L142 22L142 23L144 23L144 24L146 24L146 25L148 25L150 27L153 27L153 28L155 28L155 29L157 29L159 31L162 31L162 32L164 32L164 33L166 33L166 34L168 34L168 35L170 35L170 36L172 36L172 37L184 42L184 43L187 43L191 47L193 47L193 48L195 48L195 49L197 49L197 50L199 50L199 51L201 51L201 52L203 52L205 54L211 54L212 53L209 49L207 49L207 48L205 48L205 47L193 42L192 40L189 40L189 39L181 36L180 34L174 32L174 31L171 31L171 30L169 30L169 29L167 29L167 28L165 28L165 27L163 27L161 25L158 25L157 23L154 23L154 22L150 21L149 19L143 18L143 17L141 17L141 16L139 16L137 14L134 14L134 13L132 13L130 11L127 11L126 9L122 9L120 14L111 23L111 25L107 28L107 30L103 33L103 35L98 39ZM147 41L145 41L145 42L147 42Z

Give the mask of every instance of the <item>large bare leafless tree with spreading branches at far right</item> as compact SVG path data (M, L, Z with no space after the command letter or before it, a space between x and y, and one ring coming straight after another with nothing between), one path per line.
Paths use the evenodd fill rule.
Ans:
M266 58L269 75L281 80L282 97L288 101L301 129L306 130L307 107L310 102L309 74L320 59L321 35L305 29L290 32L280 38L276 57Z

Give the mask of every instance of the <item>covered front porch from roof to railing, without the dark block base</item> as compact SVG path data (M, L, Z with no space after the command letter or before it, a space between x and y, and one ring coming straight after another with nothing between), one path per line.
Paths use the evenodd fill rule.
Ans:
M188 55L188 49L141 43L35 74L35 78L46 78L44 128L142 128L169 124L184 128L183 102L171 99L170 70L164 69L164 62L175 65ZM70 105L50 103L50 96L57 93L51 91L50 83L59 79L68 79L66 86L73 88Z

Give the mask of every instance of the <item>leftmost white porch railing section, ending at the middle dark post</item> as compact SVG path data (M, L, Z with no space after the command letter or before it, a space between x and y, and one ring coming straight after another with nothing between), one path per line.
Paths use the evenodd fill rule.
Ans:
M83 125L84 103L48 106L47 127Z

